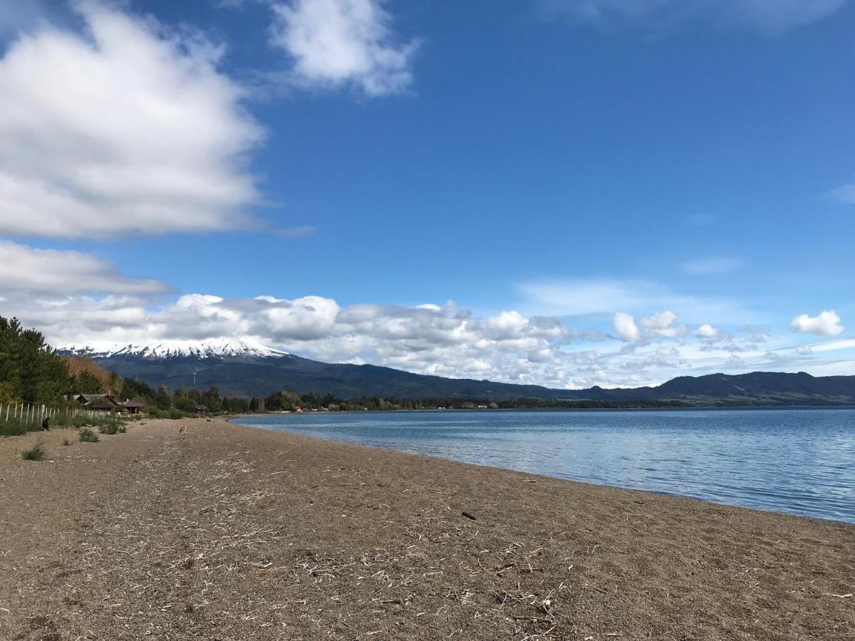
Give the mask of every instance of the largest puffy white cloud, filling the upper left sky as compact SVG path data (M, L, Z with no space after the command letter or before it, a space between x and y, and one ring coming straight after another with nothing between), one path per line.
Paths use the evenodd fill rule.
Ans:
M222 50L101 3L0 58L0 233L115 238L245 224L263 132Z

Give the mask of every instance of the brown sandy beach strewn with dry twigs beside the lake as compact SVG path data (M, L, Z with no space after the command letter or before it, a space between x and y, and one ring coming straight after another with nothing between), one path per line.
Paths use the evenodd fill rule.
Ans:
M0 439L0 541L2 639L855 638L855 526L221 419Z

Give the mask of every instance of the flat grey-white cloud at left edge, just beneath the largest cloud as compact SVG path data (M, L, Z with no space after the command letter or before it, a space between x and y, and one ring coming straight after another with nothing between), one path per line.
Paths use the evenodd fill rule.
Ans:
M150 279L122 276L112 263L77 251L36 250L0 240L0 290L110 294L154 294L168 291Z

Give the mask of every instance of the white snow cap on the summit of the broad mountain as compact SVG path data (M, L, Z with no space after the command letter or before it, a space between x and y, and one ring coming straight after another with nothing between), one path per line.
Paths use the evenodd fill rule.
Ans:
M121 356L162 360L168 358L270 358L292 356L287 352L274 350L258 343L229 338L209 340L159 340L150 343L95 343L87 345L61 345L57 348L61 354L91 356L95 359L116 358Z

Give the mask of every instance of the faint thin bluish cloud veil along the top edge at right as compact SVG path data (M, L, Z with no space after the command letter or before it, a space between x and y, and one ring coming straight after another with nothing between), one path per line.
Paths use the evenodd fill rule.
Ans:
M743 25L766 32L823 20L846 0L545 0L546 6L590 22L669 26L682 21Z

